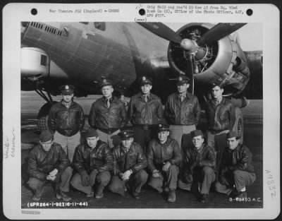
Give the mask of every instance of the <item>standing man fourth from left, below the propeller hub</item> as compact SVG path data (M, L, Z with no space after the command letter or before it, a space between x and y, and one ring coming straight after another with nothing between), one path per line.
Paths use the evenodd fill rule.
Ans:
M168 96L164 110L170 136L176 139L180 148L188 148L192 145L190 132L196 129L200 119L201 107L195 95L188 92L189 78L179 76L176 80L177 92Z

